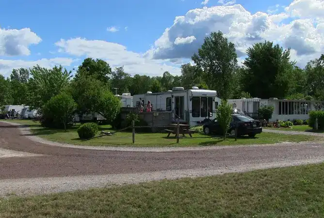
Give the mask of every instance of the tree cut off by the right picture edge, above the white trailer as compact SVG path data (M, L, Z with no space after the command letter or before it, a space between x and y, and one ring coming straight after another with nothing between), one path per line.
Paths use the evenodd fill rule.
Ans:
M305 67L308 92L318 100L324 100L324 54L311 60Z

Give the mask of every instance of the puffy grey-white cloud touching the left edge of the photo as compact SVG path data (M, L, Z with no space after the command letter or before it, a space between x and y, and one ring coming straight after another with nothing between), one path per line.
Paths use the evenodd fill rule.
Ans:
M0 29L0 56L30 55L29 46L41 41L29 28Z

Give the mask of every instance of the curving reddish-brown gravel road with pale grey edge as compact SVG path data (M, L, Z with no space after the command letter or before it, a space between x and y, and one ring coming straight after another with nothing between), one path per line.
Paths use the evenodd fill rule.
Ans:
M19 127L25 128L0 122L0 149L30 153L29 156L0 156L2 196L13 192L39 194L324 161L323 143L117 151L41 143L35 136L25 136L28 129Z

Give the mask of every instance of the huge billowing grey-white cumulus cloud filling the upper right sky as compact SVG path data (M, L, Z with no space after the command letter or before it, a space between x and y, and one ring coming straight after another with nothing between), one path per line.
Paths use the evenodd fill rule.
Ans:
M292 58L302 64L324 53L323 0L294 0L284 11L279 5L269 10L251 14L239 4L190 10L177 16L147 53L156 60L190 58L212 31L222 31L240 59L248 47L264 40L291 47ZM287 18L290 22L283 22Z

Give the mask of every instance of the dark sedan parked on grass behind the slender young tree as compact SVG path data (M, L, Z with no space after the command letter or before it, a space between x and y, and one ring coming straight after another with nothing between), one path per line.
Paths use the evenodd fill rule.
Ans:
M235 128L237 126L237 135L248 135L249 137L255 137L256 134L262 132L261 122L252 119L243 114L232 114L232 121L228 128L228 133L235 134ZM223 131L216 119L203 125L203 130L206 135L215 133L222 135Z

